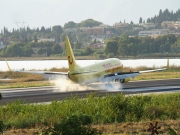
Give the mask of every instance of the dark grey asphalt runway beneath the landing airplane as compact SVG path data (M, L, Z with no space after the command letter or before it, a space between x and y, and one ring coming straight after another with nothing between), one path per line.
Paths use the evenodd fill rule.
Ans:
M115 85L118 83L114 83ZM78 91L64 91L59 87L34 87L34 88L18 88L18 89L3 89L0 90L2 99L0 104L6 104L18 99L26 103L50 102L52 100L63 100L71 96L86 97L88 94L95 92L96 95L105 96L106 94L143 94L143 93L165 93L165 92L180 92L180 79L166 80L148 80L148 81L132 81L122 84L120 89L97 89L102 85L95 83L88 85L88 89Z

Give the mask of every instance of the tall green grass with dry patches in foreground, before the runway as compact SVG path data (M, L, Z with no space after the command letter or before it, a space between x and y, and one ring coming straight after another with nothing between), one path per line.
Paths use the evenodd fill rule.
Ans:
M162 126L161 132L166 134L166 125L180 132L180 93L128 97L117 94L103 98L92 93L84 100L75 96L61 102L52 101L51 104L16 101L0 107L0 120L6 130L42 129L63 118L81 114L90 116L94 126L104 133L147 133L152 121L158 121Z

